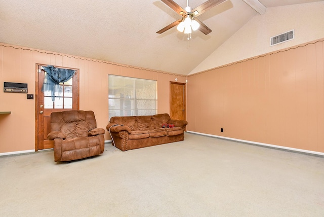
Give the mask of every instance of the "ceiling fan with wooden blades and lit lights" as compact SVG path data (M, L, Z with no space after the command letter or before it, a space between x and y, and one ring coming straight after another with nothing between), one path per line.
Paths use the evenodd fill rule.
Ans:
M198 7L192 9L189 7L189 0L187 0L187 7L184 9L181 8L177 3L175 3L172 0L161 0L163 3L165 3L167 6L169 6L171 9L173 9L175 12L177 12L179 15L182 16L181 19L174 21L173 23L167 25L163 29L158 30L156 33L163 33L172 27L177 26L177 29L181 32L184 31L184 33L188 33L188 35L191 33L192 30L199 30L203 32L204 34L209 34L212 30L208 28L203 22L201 22L197 16L203 14L204 12L208 11L209 9L215 7L216 5L221 4L222 2L225 2L226 0L209 0ZM189 36L188 36L189 40Z

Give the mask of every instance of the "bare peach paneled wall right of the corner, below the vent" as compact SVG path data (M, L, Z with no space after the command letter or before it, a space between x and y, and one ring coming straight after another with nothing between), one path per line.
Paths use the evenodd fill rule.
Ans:
M324 152L323 67L321 40L189 76L187 129Z

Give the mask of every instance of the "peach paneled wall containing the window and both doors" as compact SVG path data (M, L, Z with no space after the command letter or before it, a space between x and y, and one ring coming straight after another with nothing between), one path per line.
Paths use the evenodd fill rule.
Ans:
M109 121L108 74L156 80L158 113L170 111L170 81L186 81L182 75L0 43L0 111L11 111L0 115L0 153L35 148L35 100L27 100L22 93L4 93L3 85L27 83L28 93L35 94L36 63L78 68L79 109L93 110L97 126L104 129ZM108 133L105 139L110 139Z

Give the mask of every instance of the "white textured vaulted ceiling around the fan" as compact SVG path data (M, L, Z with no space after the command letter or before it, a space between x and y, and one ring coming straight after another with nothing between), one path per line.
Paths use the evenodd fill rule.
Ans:
M266 8L317 1L259 0ZM201 14L213 31L188 41L176 27L156 33L181 18L158 0L0 0L0 42L187 75L258 14L246 2L227 0Z

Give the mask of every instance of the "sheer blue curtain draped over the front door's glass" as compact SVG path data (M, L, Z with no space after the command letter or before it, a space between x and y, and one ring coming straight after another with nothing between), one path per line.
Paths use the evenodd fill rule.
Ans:
M46 71L46 74L42 92L50 91L52 95L52 101L54 102L55 93L58 93L59 96L62 95L60 83L64 83L70 80L74 76L75 70L56 68L53 65L43 66L43 69Z

